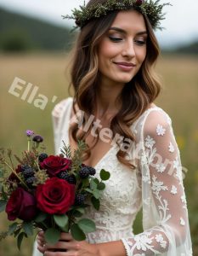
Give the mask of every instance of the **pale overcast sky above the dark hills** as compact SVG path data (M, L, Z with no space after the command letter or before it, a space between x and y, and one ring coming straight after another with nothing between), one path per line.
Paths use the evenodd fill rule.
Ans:
M161 3L167 1L161 0ZM161 23L166 29L156 32L161 46L172 47L198 40L198 0L169 0L169 2L173 6L165 8L166 20ZM72 26L74 22L63 20L61 15L71 15L71 9L78 8L83 3L84 0L0 0L0 7L48 20L60 26Z

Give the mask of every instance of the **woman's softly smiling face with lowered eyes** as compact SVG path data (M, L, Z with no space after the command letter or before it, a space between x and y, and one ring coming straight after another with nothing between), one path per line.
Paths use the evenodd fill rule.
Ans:
M126 84L139 72L146 56L146 26L135 10L121 11L99 43L102 82Z

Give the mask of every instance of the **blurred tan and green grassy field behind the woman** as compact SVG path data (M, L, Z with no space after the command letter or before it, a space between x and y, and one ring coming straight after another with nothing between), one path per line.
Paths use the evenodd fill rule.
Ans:
M66 63L65 53L0 55L0 147L11 147L14 153L19 154L26 148L24 131L32 129L44 136L48 152L54 152L50 113L56 102L68 96ZM163 84L156 104L164 108L173 119L182 163L189 170L184 185L194 253L198 255L198 58L162 55L156 69L161 74ZM34 100L39 97L39 93L48 97L44 110L36 108L34 101L28 103L28 96L22 100L20 97L24 90L15 90L20 94L18 97L8 93L15 77L38 86ZM52 102L53 96L57 96L55 102ZM5 230L7 224L6 217L1 213L0 230ZM139 221L136 221L136 232L139 232L140 226ZM0 255L31 256L31 247L32 240L25 241L18 253L14 239L9 237L0 243Z

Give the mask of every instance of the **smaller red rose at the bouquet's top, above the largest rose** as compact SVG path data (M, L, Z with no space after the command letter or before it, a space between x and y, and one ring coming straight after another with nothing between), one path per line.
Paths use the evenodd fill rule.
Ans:
M66 171L71 166L71 160L59 156L49 155L40 166L47 170L50 177L56 176L59 172Z

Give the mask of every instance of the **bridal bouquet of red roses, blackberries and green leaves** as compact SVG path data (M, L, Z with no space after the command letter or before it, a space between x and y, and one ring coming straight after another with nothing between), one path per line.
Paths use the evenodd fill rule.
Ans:
M22 156L11 149L0 150L0 212L5 211L12 224L0 232L17 238L20 248L23 238L44 230L48 243L59 241L60 232L71 232L74 239L86 239L95 230L92 219L83 218L90 204L99 210L101 191L110 172L82 164L86 144L79 141L71 156L64 143L59 155L48 155L42 147L42 137L27 130L28 147ZM14 165L18 161L18 166Z

